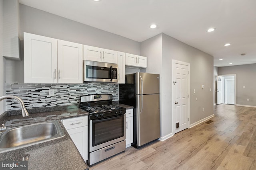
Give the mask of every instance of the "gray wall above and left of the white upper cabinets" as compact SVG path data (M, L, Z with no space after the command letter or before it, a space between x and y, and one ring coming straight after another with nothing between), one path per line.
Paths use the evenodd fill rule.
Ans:
M21 47L23 32L140 55L137 41L20 4ZM23 60L7 60L6 65L6 82L23 83Z

